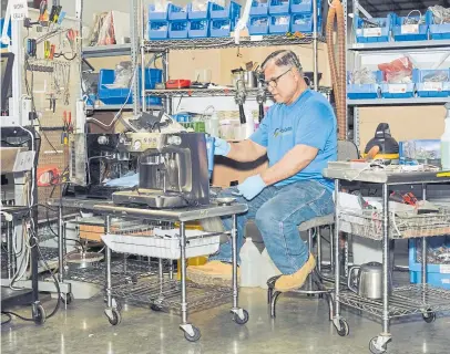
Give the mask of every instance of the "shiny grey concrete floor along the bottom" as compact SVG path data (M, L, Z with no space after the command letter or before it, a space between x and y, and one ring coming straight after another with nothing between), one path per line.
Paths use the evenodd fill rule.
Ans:
M174 314L125 304L122 323L112 326L103 314L102 296L75 300L42 326L18 319L3 325L1 353L362 354L369 353L369 340L380 332L379 323L344 311L350 335L340 337L328 322L325 301L297 295L279 298L275 320L268 315L264 290L244 289L241 304L250 314L243 326L231 320L228 304L192 314L202 337L188 343ZM48 313L53 305L54 301L44 302ZM30 315L30 308L16 310ZM439 314L431 324L420 315L393 321L391 333L390 354L449 353L450 315Z

